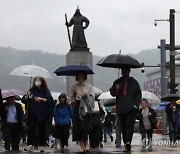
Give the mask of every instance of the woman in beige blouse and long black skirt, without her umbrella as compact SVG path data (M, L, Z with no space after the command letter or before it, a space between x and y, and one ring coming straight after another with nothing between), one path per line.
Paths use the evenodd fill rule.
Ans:
M72 101L76 101L73 114L73 141L80 143L81 152L89 151L88 135L91 129L91 117L85 110L88 97L89 103L94 103L95 92L93 87L86 83L87 74L79 71L76 75L77 83L72 86L70 96ZM91 104L88 105L90 108Z

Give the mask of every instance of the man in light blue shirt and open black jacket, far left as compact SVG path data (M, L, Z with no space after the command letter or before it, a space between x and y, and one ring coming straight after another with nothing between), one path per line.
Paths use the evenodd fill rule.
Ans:
M6 98L6 102L1 107L5 151L17 151L19 150L20 133L23 132L22 106L15 102L15 96L11 96Z

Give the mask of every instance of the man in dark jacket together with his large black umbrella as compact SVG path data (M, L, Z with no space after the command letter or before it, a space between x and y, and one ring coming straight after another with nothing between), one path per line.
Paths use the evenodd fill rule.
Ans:
M119 116L125 151L131 151L131 141L135 123L135 114L141 102L139 83L130 77L130 68L141 68L142 65L133 57L123 54L112 54L98 63L101 67L121 68L122 77L114 81L110 88L112 96L116 96L117 115Z

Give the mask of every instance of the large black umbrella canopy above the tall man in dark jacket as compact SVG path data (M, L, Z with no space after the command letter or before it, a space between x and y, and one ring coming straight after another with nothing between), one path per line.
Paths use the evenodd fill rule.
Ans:
M133 57L122 54L112 54L103 59L98 63L98 66L110 67L110 68L141 68L142 65Z

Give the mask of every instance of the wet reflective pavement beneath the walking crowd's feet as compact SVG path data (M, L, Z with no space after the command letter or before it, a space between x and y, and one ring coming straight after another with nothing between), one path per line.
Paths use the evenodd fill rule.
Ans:
M134 154L139 153L153 153L153 154L180 154L180 141L176 143L176 146L169 145L168 136L167 135L157 135L155 134L153 137L153 150L150 152L146 150L145 152L142 152L141 150L141 136L138 133L135 133L133 136L132 141L132 152ZM71 139L70 139L71 140ZM69 141L70 141L69 140ZM13 152L13 153L28 153L24 152L23 149L25 148L24 144L20 144L20 152ZM92 149L88 153L98 153L98 154L121 154L124 153L124 146L122 145L121 148L116 148L114 142L110 142L110 139L107 143L104 143L104 148L97 148ZM1 143L0 146L0 153L10 153L10 152L4 152L3 146ZM31 152L31 153L39 153L37 152ZM51 149L50 147L46 148L45 153L60 153L58 149ZM75 142L69 143L69 148L65 149L64 153L74 154L79 153L79 145L77 145Z

